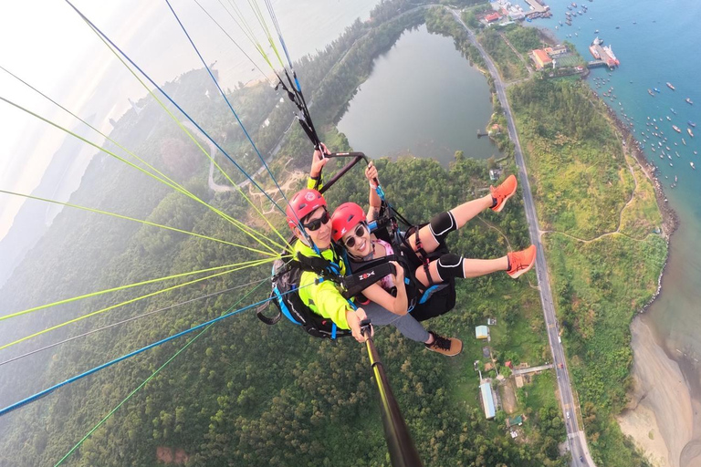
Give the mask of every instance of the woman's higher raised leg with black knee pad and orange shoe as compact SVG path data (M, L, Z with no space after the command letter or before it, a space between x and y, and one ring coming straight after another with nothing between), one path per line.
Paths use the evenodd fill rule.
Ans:
M502 182L497 188L490 187L490 192L482 198L464 202L447 213L440 213L434 216L431 223L419 230L419 239L424 251L433 253L438 248L438 245L444 241L448 233L461 228L487 208L491 208L497 213L500 212L504 209L507 200L514 195L517 187L516 177L509 175L507 180ZM412 245L413 251L417 251L415 235L409 238L409 243Z

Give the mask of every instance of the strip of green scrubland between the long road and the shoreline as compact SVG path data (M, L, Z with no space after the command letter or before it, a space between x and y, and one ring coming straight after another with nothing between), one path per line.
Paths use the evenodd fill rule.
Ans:
M630 385L629 325L666 255L652 234L661 221L652 184L580 83L536 80L509 96L541 228L553 231L543 242L592 455L602 465L644 464L613 416Z

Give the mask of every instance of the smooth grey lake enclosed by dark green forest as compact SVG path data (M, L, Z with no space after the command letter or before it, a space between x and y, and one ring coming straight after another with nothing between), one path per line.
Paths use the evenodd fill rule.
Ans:
M413 155L447 165L455 151L487 159L501 153L477 138L492 114L487 78L426 26L404 32L375 60L338 128L354 150L378 158Z

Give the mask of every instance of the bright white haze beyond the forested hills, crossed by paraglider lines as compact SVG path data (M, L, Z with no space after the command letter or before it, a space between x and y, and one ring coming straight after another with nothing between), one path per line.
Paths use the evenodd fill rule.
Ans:
M264 71L269 68L246 42L240 28L220 0L198 0L236 41L247 48ZM230 0L224 0L224 3ZM163 0L74 0L102 29L159 84L195 67L202 67L187 38ZM246 14L248 2L235 0ZM264 3L258 0L265 11ZM273 0L292 59L313 52L339 36L356 17L365 19L379 0ZM171 0L207 63L217 61L225 86L262 78L234 44L205 16L194 0ZM255 22L251 20L251 24ZM262 40L262 36L257 36ZM110 118L128 109L145 89L111 54L98 36L65 1L23 0L0 6L0 66L25 79L82 118L95 115L95 125L110 131ZM79 122L37 96L0 70L0 97L13 100L39 115L74 129ZM0 190L31 193L66 134L0 101ZM93 137L100 144L99 137ZM128 141L120 141L127 142ZM85 166L97 152L85 148L76 155ZM75 173L76 171L71 171ZM81 173L80 171L78 171ZM79 177L67 181L66 192L78 187ZM66 200L61 200L66 201ZM0 240L12 225L24 199L0 194Z

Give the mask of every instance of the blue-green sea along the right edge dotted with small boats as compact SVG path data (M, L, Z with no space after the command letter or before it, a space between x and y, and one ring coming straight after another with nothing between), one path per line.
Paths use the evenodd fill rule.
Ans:
M644 145L648 160L659 167L658 178L670 206L678 215L680 223L672 237L662 295L641 319L652 328L655 340L667 357L679 365L694 405L698 407L701 402L701 248L697 238L701 233L701 156L695 151L701 151L701 88L698 85L701 61L696 52L701 43L698 27L701 4L677 0L584 1L572 9L581 11L581 5L585 5L588 11L576 16L572 26L564 24L569 2L548 4L553 17L535 20L531 26L548 27L560 40L574 44L588 60L592 59L589 46L595 37L602 38L604 45L612 46L621 66L612 72L607 68L592 70L588 82L623 121L633 122L635 137ZM559 21L564 26L560 26ZM667 82L675 90L668 88ZM610 88L607 99L602 93L609 93ZM648 88L657 88L659 92L653 90L654 97L650 96ZM611 94L615 95L614 99ZM686 103L686 98L694 104ZM689 120L699 123L698 130L688 125ZM648 122L653 125L646 125ZM654 125L658 130L654 130ZM693 138L687 128L695 133ZM650 136L651 131L664 134L658 139ZM692 162L696 170L692 169ZM676 186L672 188L675 177ZM636 353L634 347L633 352ZM645 365L645 362L638 360L636 365ZM664 384L664 379L655 384ZM641 388L643 392L648 389ZM657 414L658 420L661 415ZM671 452L672 465L699 465L697 462L701 460L696 454L701 413L695 410L689 416L693 417L694 432L681 456L679 452Z

